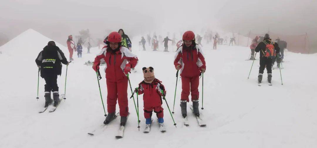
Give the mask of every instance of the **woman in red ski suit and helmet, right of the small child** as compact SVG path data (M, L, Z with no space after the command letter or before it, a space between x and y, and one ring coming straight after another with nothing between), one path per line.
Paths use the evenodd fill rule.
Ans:
M176 51L174 65L176 70L180 70L182 78L180 106L182 115L185 118L187 116L186 102L189 102L188 96L190 92L194 114L199 116L199 75L201 72L205 72L206 62L201 47L195 43L195 34L192 31L186 31L183 34L183 40L184 43Z

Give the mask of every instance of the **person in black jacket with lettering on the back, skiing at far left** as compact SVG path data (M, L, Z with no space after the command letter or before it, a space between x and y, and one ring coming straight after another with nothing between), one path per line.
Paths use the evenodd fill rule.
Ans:
M57 86L57 75L61 75L61 63L68 65L64 53L56 46L54 41L49 41L47 46L38 54L36 60L37 67L41 68L41 77L45 80L45 106L48 107L53 100L51 99L51 91L53 92L54 107L59 103L59 94Z

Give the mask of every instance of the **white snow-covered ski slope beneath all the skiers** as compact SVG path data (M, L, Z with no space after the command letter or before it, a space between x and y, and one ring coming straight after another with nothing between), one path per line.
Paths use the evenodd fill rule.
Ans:
M27 35L19 40L34 39ZM20 37L20 36L19 36ZM15 40L15 39L13 39ZM13 41L12 40L12 41ZM93 137L87 132L103 124L104 113L99 96L97 76L91 66L84 62L94 59L100 50L92 48L93 54L77 58L68 67L66 100L54 113L38 111L44 105L44 80L40 79L40 99L36 100L37 67L35 58L47 44L44 37L37 38L32 46L12 41L1 48L12 53L0 55L0 147L243 147L243 148L298 148L317 146L317 108L315 79L317 55L302 55L287 52L283 63L281 85L279 70L273 70L273 86L266 85L266 71L263 85L257 86L259 61L255 64L248 80L252 61L245 61L249 48L218 46L210 50L211 44L203 46L207 62L204 74L204 110L201 115L206 127L199 127L189 112L189 127L182 125L179 98L181 81L178 82L173 126L171 116L164 103L166 133L160 133L156 115L151 132L144 134L145 119L143 100L139 97L140 132L133 100L129 99L130 116L123 139L115 139L119 120L113 121L107 129ZM28 40L29 41L29 40ZM21 44L19 44L21 43ZM139 51L134 41L133 53L139 58L137 73L130 75L132 87L143 80L142 67L152 66L155 77L163 81L167 89L166 99L172 109L176 82L173 65L175 52ZM10 46L9 46L10 44ZM58 45L65 56L68 51ZM20 48L16 48L20 47ZM21 47L24 47L21 49ZM169 47L170 50L172 46ZM174 48L176 48L174 46ZM34 52L27 52L33 51ZM4 52L4 50L3 50ZM17 55L17 56L16 56ZM23 59L23 62L19 59ZM258 58L258 56L257 56ZM103 69L103 67L100 67ZM58 78L60 94L64 93L66 66ZM106 103L107 91L104 72L100 80L102 96ZM128 91L130 88L128 88ZM201 85L199 87L201 91ZM128 93L129 96L131 92ZM201 94L201 93L200 93ZM200 102L201 103L201 102ZM106 105L106 104L105 104ZM201 105L201 104L200 104ZM118 109L118 108L117 108Z

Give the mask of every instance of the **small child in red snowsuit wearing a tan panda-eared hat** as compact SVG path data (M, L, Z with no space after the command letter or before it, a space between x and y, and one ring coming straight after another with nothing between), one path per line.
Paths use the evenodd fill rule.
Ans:
M162 108L162 96L166 95L166 91L162 82L155 78L154 69L152 67L142 68L144 74L144 80L139 83L139 87L135 89L138 94L143 94L144 101L144 117L146 119L146 125L151 124L152 111L156 113L160 125L164 125L163 108ZM163 91L163 93L162 93Z

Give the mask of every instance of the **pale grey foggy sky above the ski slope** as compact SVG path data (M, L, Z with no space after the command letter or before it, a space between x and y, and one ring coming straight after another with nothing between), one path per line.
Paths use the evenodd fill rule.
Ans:
M265 33L268 28L275 33L317 33L316 7L315 0L2 0L0 33L12 39L33 28L57 41L87 28L94 38L120 28L129 36L203 27L245 33Z

